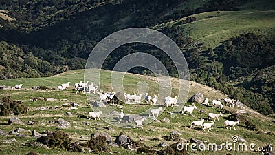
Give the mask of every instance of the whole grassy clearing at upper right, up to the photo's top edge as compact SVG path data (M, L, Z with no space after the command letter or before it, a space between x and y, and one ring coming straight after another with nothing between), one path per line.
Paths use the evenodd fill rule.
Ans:
M159 30L166 26L180 25L186 37L204 43L206 48L214 48L221 41L230 39L239 34L252 32L274 36L275 10L273 1L253 1L239 7L240 11L217 11L193 14L197 21L180 24L188 17L155 25Z

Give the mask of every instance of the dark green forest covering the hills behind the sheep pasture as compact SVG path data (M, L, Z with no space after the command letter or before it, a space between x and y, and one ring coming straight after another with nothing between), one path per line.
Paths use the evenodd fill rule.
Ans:
M14 21L0 18L0 79L52 76L67 70L85 68L86 59L98 41L124 28L152 28L160 23L209 11L236 11L250 0L212 0L201 6L184 7L188 0L172 1L0 1ZM192 81L221 90L261 114L275 112L274 37L239 34L215 48L186 37L177 24L159 30L181 48ZM124 45L107 57L103 68L112 70L123 56L146 52L177 77L173 61L150 45ZM268 72L267 72L268 71ZM129 72L152 75L150 70ZM273 73L273 74L272 74Z

